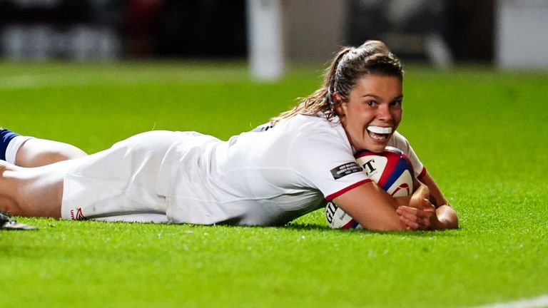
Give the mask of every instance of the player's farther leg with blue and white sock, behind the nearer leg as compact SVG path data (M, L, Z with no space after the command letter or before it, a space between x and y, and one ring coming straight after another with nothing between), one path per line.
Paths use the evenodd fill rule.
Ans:
M0 130L0 160L21 167L38 167L87 155L74 145L31 138Z

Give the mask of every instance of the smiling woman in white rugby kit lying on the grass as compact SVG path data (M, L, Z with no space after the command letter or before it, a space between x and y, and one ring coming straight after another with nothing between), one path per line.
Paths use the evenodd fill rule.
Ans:
M2 130L0 209L71 220L284 225L333 200L370 230L456 228L455 210L396 132L402 79L385 44L367 41L342 48L323 86L295 108L228 141L151 131L86 155ZM387 145L407 154L420 180L404 205L360 168L332 173L355 164L355 153Z

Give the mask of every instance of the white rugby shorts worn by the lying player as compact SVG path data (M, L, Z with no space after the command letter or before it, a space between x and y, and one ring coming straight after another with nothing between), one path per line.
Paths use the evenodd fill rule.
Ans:
M166 151L194 132L156 130L71 161L64 177L61 217L68 220L168 222L166 197L156 192Z

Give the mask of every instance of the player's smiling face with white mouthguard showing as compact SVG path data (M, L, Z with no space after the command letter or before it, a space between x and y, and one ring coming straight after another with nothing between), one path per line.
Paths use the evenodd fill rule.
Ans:
M402 120L402 81L367 74L357 79L348 100L333 94L342 127L355 150L381 152Z

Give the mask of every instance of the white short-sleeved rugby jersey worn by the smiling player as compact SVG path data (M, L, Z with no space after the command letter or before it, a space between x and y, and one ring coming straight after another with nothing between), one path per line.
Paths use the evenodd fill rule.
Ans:
M394 135L390 145L422 171L407 140ZM360 171L338 119L298 115L228 141L188 134L167 150L156 193L171 222L283 225L370 181Z

